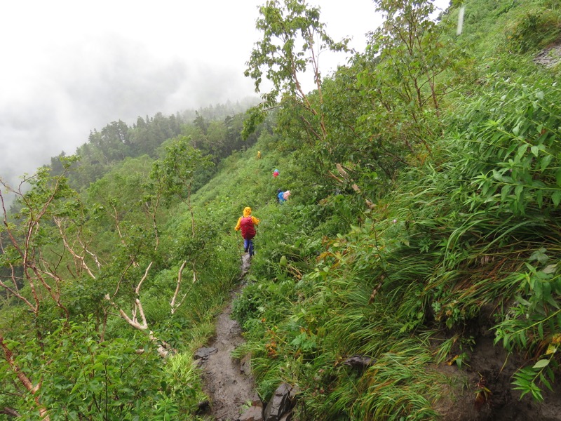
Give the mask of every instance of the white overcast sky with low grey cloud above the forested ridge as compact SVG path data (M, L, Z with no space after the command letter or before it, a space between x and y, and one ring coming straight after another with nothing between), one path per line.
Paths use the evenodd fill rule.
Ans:
M438 0L447 4L445 0ZM18 0L0 14L0 178L12 185L119 119L236 102L265 0ZM372 0L309 0L335 40L380 23ZM344 64L344 57L339 57ZM331 59L322 70L336 66Z

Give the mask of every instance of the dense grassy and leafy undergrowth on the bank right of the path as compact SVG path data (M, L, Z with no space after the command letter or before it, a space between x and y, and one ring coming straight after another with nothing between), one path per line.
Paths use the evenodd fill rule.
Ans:
M561 90L547 77L482 84L434 160L357 226L351 196L266 209L273 230L234 303L248 340L236 354L251 352L265 400L289 382L301 419L457 416L442 402L466 419L554 419ZM371 363L345 364L355 355Z

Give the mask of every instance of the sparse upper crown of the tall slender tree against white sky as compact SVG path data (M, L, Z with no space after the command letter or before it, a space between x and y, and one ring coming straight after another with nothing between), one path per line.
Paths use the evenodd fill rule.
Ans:
M271 91L262 94L263 102L250 110L245 123L245 135L255 130L264 120L264 113L279 106L279 101L291 98L306 114L302 116L318 140L327 138L327 128L321 105L323 96L320 72L320 53L347 51L348 39L334 41L320 21L320 9L304 0L269 0L259 8L256 27L263 38L253 49L245 76L255 81L255 91L260 92L263 78L272 83ZM318 91L318 102L312 104L304 91L304 72L311 71Z

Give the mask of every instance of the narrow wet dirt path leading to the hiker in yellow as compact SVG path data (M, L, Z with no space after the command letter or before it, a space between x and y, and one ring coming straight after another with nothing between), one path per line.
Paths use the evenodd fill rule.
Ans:
M241 278L249 267L249 257L244 255ZM245 408L259 401L248 364L231 357L231 352L244 342L241 327L231 319L232 300L242 288L232 291L229 305L217 319L215 338L196 353L200 358L205 392L210 399L208 420L236 421Z

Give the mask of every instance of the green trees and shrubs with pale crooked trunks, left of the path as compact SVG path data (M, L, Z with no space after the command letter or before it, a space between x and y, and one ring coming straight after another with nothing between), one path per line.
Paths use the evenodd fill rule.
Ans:
M168 180L163 187L170 189L161 194L173 194L176 187L180 194L187 192L181 182L190 183L195 167L208 164L187 140L182 145L186 148L171 150L183 153L175 156L177 161L173 153L164 161L175 162L177 179ZM189 250L170 247L177 241L168 240L164 231L165 253L158 254L162 215L149 203L158 194L148 182L152 160L144 156L112 167L83 196L68 187L67 171L75 161L75 156L63 159L61 175L42 168L28 178L29 191L14 192L20 213L13 218L4 213L1 265L8 277L0 280L0 383L6 394L0 396L0 406L26 419L39 413L50 419L133 419L141 413L173 419L163 414L187 413L196 403L194 389L176 384L194 373L183 363L179 372L162 375L156 355L170 352L165 340L180 343L182 335L170 326L189 326L192 318L201 321L220 299L220 294L201 292L214 284L203 281L209 276L204 267L194 277L201 286L182 288L181 283L181 261L191 251L189 260L195 261L209 239L217 247L216 232L205 229L205 241L203 236L193 239L197 247ZM190 238L190 231L174 232ZM162 269L160 276L154 273ZM233 279L228 270L222 274L226 282ZM200 299L208 296L212 300ZM186 301L193 307L185 309ZM156 303L167 303L167 308ZM165 376L175 379L169 387ZM144 381L149 386L141 385ZM138 391L143 391L141 405Z

